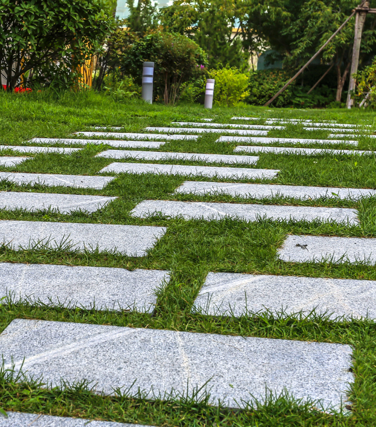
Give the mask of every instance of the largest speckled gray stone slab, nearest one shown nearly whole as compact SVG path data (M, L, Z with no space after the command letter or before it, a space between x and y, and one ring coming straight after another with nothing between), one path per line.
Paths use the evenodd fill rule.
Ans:
M27 377L52 385L85 379L96 392L140 389L149 398L203 387L211 404L235 408L252 395L263 402L267 388L339 410L354 381L349 345L68 322L15 319L0 354L5 369L23 364Z

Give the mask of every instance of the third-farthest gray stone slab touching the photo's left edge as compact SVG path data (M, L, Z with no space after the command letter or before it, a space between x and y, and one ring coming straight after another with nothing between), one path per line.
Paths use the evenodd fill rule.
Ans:
M115 177L87 176L87 175L58 175L47 173L0 172L0 180L14 182L15 184L41 184L62 185L64 187L103 189Z

